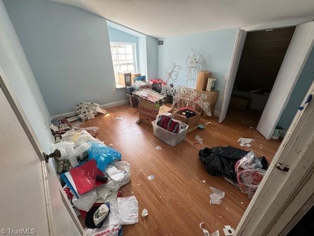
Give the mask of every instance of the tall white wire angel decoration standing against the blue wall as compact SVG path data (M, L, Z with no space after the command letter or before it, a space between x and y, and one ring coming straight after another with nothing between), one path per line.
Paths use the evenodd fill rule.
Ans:
M186 80L185 86L195 89L196 79L199 71L204 68L204 57L203 55L197 56L196 49L192 48L192 56L186 58Z

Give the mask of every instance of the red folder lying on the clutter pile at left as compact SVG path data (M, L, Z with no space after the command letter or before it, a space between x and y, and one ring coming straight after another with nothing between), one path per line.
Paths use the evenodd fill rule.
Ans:
M96 176L104 176L104 174L97 168L95 159L70 169L70 173L79 194L84 194L104 184L96 180Z

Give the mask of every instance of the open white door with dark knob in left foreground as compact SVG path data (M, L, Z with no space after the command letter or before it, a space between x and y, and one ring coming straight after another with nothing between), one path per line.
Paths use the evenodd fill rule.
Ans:
M50 164L39 159L1 88L0 111L0 234L83 235Z

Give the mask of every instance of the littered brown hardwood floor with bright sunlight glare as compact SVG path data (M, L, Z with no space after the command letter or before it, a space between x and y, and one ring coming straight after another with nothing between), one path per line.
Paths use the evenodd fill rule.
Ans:
M106 145L113 144L123 160L131 164L131 182L121 190L123 197L137 198L139 222L124 226L123 236L203 236L201 222L205 222L203 227L210 233L219 230L220 235L224 225L236 228L250 199L226 187L223 177L210 176L198 159L198 151L227 145L241 148L239 138L252 138L252 150L270 162L280 145L278 140L264 139L250 125L229 118L219 124L217 117L211 117L201 119L206 129L187 134L183 143L172 148L154 136L151 126L135 123L136 108L123 105L107 110L110 116L99 115L81 127L99 126L97 138ZM207 121L211 124L204 124ZM204 139L203 144L194 145L195 135ZM157 145L162 149L155 149ZM148 180L150 175L155 175L155 179ZM225 191L220 205L209 204L209 187ZM148 209L146 218L140 215L143 208Z

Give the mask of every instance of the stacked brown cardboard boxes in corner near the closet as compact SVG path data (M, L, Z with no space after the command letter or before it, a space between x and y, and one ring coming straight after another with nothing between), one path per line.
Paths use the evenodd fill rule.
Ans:
M198 94L201 95L203 101L209 103L210 112L213 116L215 111L215 105L218 100L219 91L218 90L206 91L207 82L210 76L211 76L210 71L199 71L195 90ZM198 108L197 111L201 112L201 115L204 118L208 118L208 115L204 113L204 111L201 110L201 108Z

